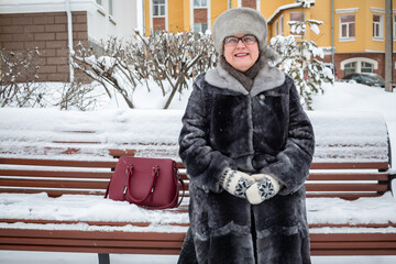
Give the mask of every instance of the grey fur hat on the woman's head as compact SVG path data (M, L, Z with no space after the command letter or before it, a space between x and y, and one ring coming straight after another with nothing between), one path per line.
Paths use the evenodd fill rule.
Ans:
M223 41L227 36L237 34L252 34L258 41L260 51L264 51L267 37L266 21L258 11L251 8L229 9L221 13L212 30L216 52L223 53Z

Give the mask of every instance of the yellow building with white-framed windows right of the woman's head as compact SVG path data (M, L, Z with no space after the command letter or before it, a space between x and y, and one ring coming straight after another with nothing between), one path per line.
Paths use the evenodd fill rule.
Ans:
M314 2L310 8L301 8L295 0L261 0L261 10L268 22L268 37L292 34L288 21L322 21L319 34L307 29L300 37L311 40L322 47L326 62L332 62L331 51L334 48L333 62L339 78L349 73L376 73L384 77L385 0L333 0L333 10L331 0ZM393 0L393 7L396 7L395 4L396 0ZM395 14L392 19L393 38L396 41ZM395 59L394 54L393 62ZM393 67L395 79L395 65Z

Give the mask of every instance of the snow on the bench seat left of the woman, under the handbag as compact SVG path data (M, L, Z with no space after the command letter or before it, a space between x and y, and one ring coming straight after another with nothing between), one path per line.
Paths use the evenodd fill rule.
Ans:
M187 206L184 199L183 206ZM0 223L0 228L28 228L46 230L85 230L85 231L161 231L185 232L180 223L188 223L187 213L174 213L169 210L146 210L127 201L113 201L101 196L64 195L51 198L41 194L0 194L0 219L31 219L76 221L74 224L33 224L33 223ZM119 227L90 226L86 221L101 222L140 222L147 227L131 224ZM175 226L173 223L179 223Z

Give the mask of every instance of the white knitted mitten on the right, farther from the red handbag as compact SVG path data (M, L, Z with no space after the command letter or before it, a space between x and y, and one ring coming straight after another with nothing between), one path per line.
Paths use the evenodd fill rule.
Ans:
M266 174L254 174L251 177L256 180L246 189L246 198L252 205L273 198L282 187L277 179Z

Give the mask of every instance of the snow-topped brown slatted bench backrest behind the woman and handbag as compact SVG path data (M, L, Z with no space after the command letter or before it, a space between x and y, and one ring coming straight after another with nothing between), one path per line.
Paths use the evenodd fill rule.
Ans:
M0 191L103 194L114 156L177 160L183 111L0 109ZM310 112L316 153L309 197L355 199L389 189L388 139L377 114ZM23 124L23 125L21 125ZM183 164L180 175L188 185ZM187 193L188 195L188 193Z

